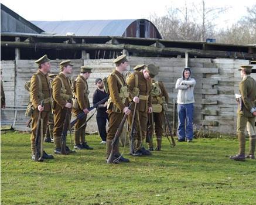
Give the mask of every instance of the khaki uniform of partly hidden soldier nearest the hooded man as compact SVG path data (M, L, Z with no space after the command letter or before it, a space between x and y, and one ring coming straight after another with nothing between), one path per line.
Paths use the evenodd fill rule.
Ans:
M163 98L166 102L166 104L168 104L168 99L169 99L169 95L165 89L165 86L163 86L162 82L155 82L153 80L153 84L158 83L158 86L160 88L160 94L159 95L154 95L152 93L152 106L153 106L153 112L151 114L149 114L149 123L151 124L151 127L149 128L149 136L153 136L153 123L152 123L152 115L153 115L153 122L155 123L155 134L156 134L156 140L162 141L162 133L163 133L163 122L164 122L164 115L163 115L163 106L162 106L162 102L163 102ZM156 86L156 87L158 87ZM161 105L162 107L162 111L161 112L154 112L154 105ZM152 139L152 137L151 137ZM161 142L160 142L161 143ZM152 147L152 141L149 142L149 147ZM160 145L161 146L161 145Z

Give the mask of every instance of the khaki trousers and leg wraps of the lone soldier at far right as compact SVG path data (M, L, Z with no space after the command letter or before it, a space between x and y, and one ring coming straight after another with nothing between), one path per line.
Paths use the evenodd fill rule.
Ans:
M251 149L251 142L254 143L254 149L255 149L254 124L255 124L255 117L244 117L243 115L239 115L239 114L237 115L237 135L238 135L238 141L239 141L238 154L240 154L240 155L245 155L245 128L246 128L246 126L249 128L248 131L249 131L249 135L250 135L250 149ZM254 135L253 135L253 133L254 133Z

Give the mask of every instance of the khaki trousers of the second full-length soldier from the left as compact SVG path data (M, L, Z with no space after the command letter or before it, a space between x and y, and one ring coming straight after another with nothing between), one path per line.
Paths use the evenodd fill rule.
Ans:
M56 110L54 110L54 127L53 127L53 141L55 149L60 149L62 145L62 131L64 127L64 121L67 115L67 119L70 124L71 114L70 109L64 107L63 109L61 107L57 107Z

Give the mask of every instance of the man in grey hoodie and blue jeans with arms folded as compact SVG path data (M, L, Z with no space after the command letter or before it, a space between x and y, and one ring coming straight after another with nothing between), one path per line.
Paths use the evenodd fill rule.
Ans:
M193 140L193 111L194 111L194 86L196 80L191 78L191 70L186 67L182 71L182 77L176 81L175 88L178 89L178 141L187 142ZM185 123L186 122L186 123Z

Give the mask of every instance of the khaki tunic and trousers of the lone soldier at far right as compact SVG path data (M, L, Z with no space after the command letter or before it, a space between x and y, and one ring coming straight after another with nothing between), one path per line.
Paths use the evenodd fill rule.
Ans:
M245 128L249 127L250 130L250 151L249 154L253 155L255 151L255 117L250 112L255 107L256 100L256 82L250 76L244 76L239 84L239 91L243 100L237 109L237 135L239 140L239 155L245 155ZM248 122L248 125L247 125Z

